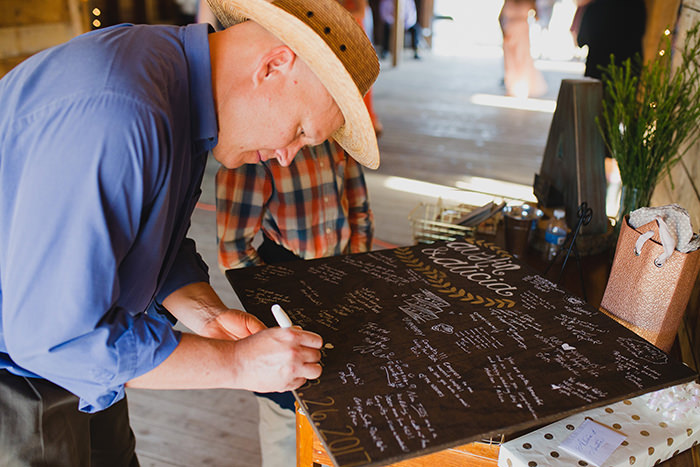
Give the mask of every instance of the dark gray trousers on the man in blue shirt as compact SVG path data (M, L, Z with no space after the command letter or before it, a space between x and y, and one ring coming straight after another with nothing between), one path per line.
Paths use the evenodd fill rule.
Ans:
M87 414L65 389L0 370L0 465L134 467L135 444L126 398Z

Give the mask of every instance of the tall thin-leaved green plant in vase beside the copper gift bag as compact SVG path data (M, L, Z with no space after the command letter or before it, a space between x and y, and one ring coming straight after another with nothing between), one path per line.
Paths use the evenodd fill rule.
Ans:
M673 50L667 30L658 54L646 64L632 60L603 69L598 127L622 180L619 221L649 206L661 177L700 136L700 23ZM671 180L671 183L673 181Z

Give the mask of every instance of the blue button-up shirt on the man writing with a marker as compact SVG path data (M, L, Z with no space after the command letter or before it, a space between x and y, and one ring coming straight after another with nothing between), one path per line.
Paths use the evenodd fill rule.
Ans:
M120 25L0 80L0 369L94 412L180 335L156 310L207 281L185 235L216 114L206 25Z

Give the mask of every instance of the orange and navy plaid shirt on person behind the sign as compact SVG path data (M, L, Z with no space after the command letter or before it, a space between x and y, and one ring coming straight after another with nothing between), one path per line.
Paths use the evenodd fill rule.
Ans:
M372 211L361 166L335 143L305 147L289 167L276 159L220 168L216 224L222 269L262 264L262 229L304 259L369 251Z

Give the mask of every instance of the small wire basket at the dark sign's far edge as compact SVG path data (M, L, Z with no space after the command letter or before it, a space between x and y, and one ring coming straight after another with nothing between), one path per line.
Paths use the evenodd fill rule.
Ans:
M435 204L420 203L408 215L414 243L452 241L474 236L474 227L465 227L454 222L475 208L476 206L467 204L446 206L441 201Z

